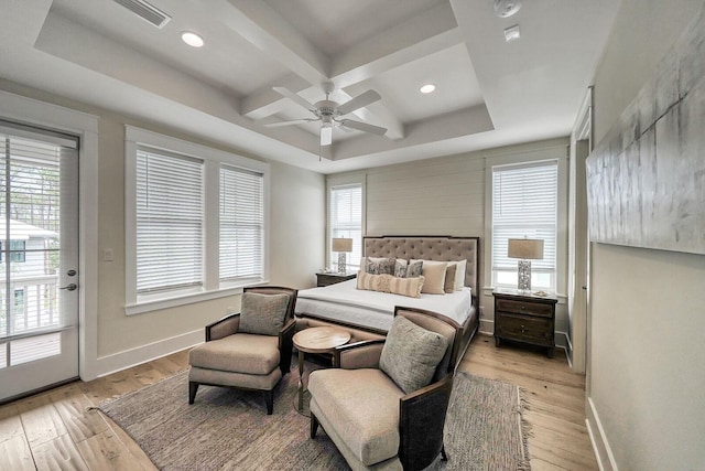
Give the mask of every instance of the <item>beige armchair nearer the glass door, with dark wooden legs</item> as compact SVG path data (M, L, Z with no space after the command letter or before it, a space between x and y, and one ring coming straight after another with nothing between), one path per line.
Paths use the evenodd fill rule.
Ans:
M274 387L291 367L294 308L299 291L283 287L246 288L242 307L206 325L206 342L188 354L188 404L198 385L261 390L272 414Z

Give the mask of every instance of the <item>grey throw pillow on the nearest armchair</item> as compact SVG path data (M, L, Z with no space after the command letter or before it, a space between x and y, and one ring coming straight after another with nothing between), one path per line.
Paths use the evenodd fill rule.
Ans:
M447 347L445 336L397 315L387 334L379 367L410 394L431 383Z

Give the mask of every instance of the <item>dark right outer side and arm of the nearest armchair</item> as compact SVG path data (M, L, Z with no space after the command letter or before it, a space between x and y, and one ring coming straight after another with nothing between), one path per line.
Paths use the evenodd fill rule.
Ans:
M449 374L399 399L399 460L404 469L425 468L441 453L452 389Z

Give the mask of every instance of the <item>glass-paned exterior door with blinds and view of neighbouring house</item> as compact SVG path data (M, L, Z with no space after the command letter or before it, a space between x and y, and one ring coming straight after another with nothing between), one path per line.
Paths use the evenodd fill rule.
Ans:
M0 402L78 376L78 139L0 120Z

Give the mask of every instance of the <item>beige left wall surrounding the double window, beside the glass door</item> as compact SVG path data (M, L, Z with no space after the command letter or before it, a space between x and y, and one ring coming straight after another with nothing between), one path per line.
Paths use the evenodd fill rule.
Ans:
M98 254L113 250L113 261L98 260L97 374L191 346L204 339L204 325L239 309L234 296L137 315L124 313L124 125L140 127L220 150L240 153L197 136L184 136L139 117L120 116L7 81L0 89L100 118L98 129ZM258 159L256 156L240 153ZM262 159L259 159L262 160ZM271 164L269 275L270 282L294 288L315 286L325 247L325 178L279 162Z

